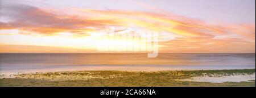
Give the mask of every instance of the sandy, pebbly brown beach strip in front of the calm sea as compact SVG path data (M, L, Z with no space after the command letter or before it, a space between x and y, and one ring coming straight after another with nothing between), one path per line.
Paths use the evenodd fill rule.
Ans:
M0 86L251 86L255 69L72 71L1 75Z

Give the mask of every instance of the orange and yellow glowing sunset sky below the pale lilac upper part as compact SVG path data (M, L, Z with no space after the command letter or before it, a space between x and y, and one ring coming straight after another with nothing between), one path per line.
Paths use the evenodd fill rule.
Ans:
M0 52L97 52L110 27L122 34L158 32L159 52L255 52L254 21L209 23L144 3L154 11L7 4Z

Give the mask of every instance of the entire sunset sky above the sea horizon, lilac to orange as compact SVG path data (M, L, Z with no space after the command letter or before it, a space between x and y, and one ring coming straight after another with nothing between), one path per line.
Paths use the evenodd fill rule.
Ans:
M101 42L127 41L106 41L114 28L158 32L159 52L255 53L255 0L0 2L0 52L98 52Z

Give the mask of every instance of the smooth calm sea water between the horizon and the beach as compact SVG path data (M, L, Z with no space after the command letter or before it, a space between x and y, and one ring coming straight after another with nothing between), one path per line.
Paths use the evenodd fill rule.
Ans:
M0 54L1 71L75 66L86 70L247 69L255 68L255 54L159 54L156 58L147 54Z

